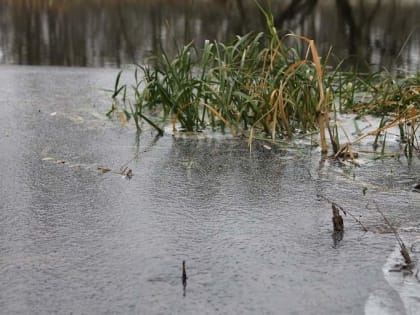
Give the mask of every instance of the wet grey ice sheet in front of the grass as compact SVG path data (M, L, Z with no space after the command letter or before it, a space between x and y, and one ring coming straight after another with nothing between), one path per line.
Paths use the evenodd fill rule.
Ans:
M133 126L102 117L99 88L115 75L0 68L2 312L414 314L418 283L386 270L393 236L345 217L334 248L331 207L317 195L378 231L368 202L418 226L417 160L354 168L308 149L249 154L242 140L154 142L146 131L136 142ZM131 180L96 172L126 162Z

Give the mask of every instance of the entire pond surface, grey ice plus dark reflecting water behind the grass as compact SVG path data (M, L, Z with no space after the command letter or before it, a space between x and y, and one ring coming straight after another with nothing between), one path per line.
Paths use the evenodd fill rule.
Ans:
M419 1L272 9L332 61L419 70ZM115 67L261 30L252 1L0 0L0 313L418 314L418 268L395 271L377 210L417 266L417 156L355 146L355 166L307 139L250 152L105 116ZM327 200L348 212L340 241Z

